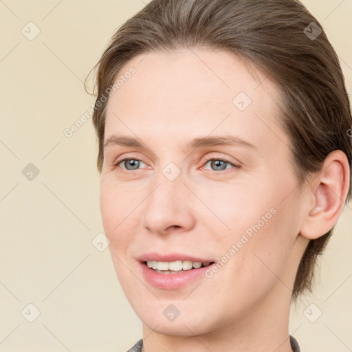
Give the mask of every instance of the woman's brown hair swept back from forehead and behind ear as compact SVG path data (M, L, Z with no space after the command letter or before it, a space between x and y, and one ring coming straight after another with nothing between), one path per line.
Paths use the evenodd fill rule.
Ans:
M344 76L325 31L303 4L296 0L153 0L115 32L94 67L98 66L98 95L93 123L100 172L104 94L121 67L138 54L187 47L228 50L270 74L283 93L281 123L292 142L299 186L336 149L347 155L351 168L352 122ZM351 182L346 202L350 198ZM305 289L311 292L316 260L332 232L333 228L309 241L296 274L293 300Z

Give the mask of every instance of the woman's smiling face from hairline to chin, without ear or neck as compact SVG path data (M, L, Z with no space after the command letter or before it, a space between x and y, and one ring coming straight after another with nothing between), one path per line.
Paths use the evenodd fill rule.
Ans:
M280 92L227 52L143 54L119 76L131 67L107 104L100 183L124 294L158 333L245 324L289 299L298 263L303 198Z

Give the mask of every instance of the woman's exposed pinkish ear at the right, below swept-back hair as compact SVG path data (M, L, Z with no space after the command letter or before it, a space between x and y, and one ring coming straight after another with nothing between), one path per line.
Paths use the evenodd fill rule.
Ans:
M350 183L350 166L347 155L333 151L325 159L322 169L311 181L312 201L307 207L300 234L307 239L317 239L338 222Z

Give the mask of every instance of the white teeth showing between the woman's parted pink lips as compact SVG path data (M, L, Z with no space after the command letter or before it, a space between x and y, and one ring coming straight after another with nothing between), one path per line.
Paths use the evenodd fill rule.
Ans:
M213 261L204 263L199 261L144 261L144 265L159 274L177 274L188 270L197 270L200 267L208 267L212 264L214 264Z

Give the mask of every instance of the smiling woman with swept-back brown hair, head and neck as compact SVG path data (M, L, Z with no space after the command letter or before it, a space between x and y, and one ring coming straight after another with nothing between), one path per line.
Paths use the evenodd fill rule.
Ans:
M295 0L153 0L98 62L100 209L129 351L300 351L292 301L351 198L336 53Z

